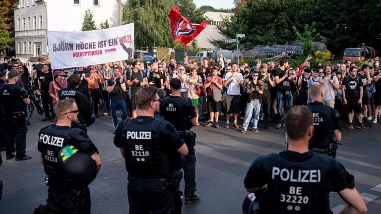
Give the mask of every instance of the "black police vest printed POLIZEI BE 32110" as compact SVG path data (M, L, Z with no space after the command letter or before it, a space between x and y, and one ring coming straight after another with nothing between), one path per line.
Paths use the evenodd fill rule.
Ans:
M160 149L158 121L152 118L147 124L136 124L132 120L127 120L121 135L128 174L138 178L166 178L171 170L168 154Z

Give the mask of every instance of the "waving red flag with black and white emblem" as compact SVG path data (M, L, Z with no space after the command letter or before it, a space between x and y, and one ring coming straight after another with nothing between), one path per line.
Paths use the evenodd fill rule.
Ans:
M205 20L199 25L192 25L188 19L179 12L179 7L172 7L168 14L171 19L172 37L175 41L182 41L183 47L190 43L203 29L206 28Z

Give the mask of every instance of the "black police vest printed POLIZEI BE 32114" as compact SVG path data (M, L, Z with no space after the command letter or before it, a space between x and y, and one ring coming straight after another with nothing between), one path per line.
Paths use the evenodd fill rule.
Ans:
M58 130L53 126L54 124L51 124L41 129L38 144L45 173L53 179L64 181L64 170L58 165L58 156L62 147L69 144L72 129Z

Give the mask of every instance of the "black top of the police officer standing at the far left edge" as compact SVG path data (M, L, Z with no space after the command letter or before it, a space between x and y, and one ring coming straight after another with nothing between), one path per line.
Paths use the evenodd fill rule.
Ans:
M19 91L18 94L15 94L16 90ZM25 89L15 84L6 84L3 87L1 87L0 99L2 100L3 111L15 112L25 110L25 103L22 100L22 98L19 97L23 94L26 97Z

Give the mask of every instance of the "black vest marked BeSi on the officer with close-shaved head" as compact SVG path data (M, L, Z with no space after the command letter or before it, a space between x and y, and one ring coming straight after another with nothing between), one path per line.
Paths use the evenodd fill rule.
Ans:
M322 103L307 106L314 117L314 136L309 142L310 148L328 148L332 141L332 110Z

